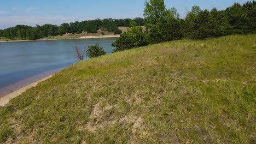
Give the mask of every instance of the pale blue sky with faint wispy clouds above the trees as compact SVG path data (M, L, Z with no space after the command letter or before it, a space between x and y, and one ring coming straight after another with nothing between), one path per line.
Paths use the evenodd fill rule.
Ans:
M0 29L16 25L60 25L64 22L94 19L134 19L143 17L146 0L2 0ZM166 8L174 7L185 17L193 5L201 9L226 9L247 0L165 0Z

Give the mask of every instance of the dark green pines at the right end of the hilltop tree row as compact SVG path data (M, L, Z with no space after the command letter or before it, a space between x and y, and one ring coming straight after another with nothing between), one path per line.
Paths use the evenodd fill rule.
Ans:
M255 1L235 3L226 10L200 10L194 6L183 21L185 38L206 39L229 34L255 33ZM254 14L254 15L253 15Z

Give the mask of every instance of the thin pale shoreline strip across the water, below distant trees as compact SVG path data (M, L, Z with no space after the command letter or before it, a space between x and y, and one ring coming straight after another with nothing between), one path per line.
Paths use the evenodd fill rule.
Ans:
M36 39L36 40L9 40L9 41L0 41L0 43L10 43L10 42L26 42L26 41L47 41L47 40L67 40L67 39L100 39L100 38L119 38L120 35L88 35L88 36L82 36L79 38L66 38L66 39Z

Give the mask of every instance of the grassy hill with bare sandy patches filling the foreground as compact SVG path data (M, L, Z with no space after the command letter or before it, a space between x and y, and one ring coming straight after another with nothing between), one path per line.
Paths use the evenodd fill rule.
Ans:
M0 108L0 143L255 143L256 35L92 58Z

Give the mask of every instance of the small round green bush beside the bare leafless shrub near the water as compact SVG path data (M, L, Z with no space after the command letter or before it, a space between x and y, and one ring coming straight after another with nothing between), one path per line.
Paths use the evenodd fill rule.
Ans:
M103 50L103 47L100 47L98 44L89 46L89 49L86 51L86 56L93 58L107 53Z

